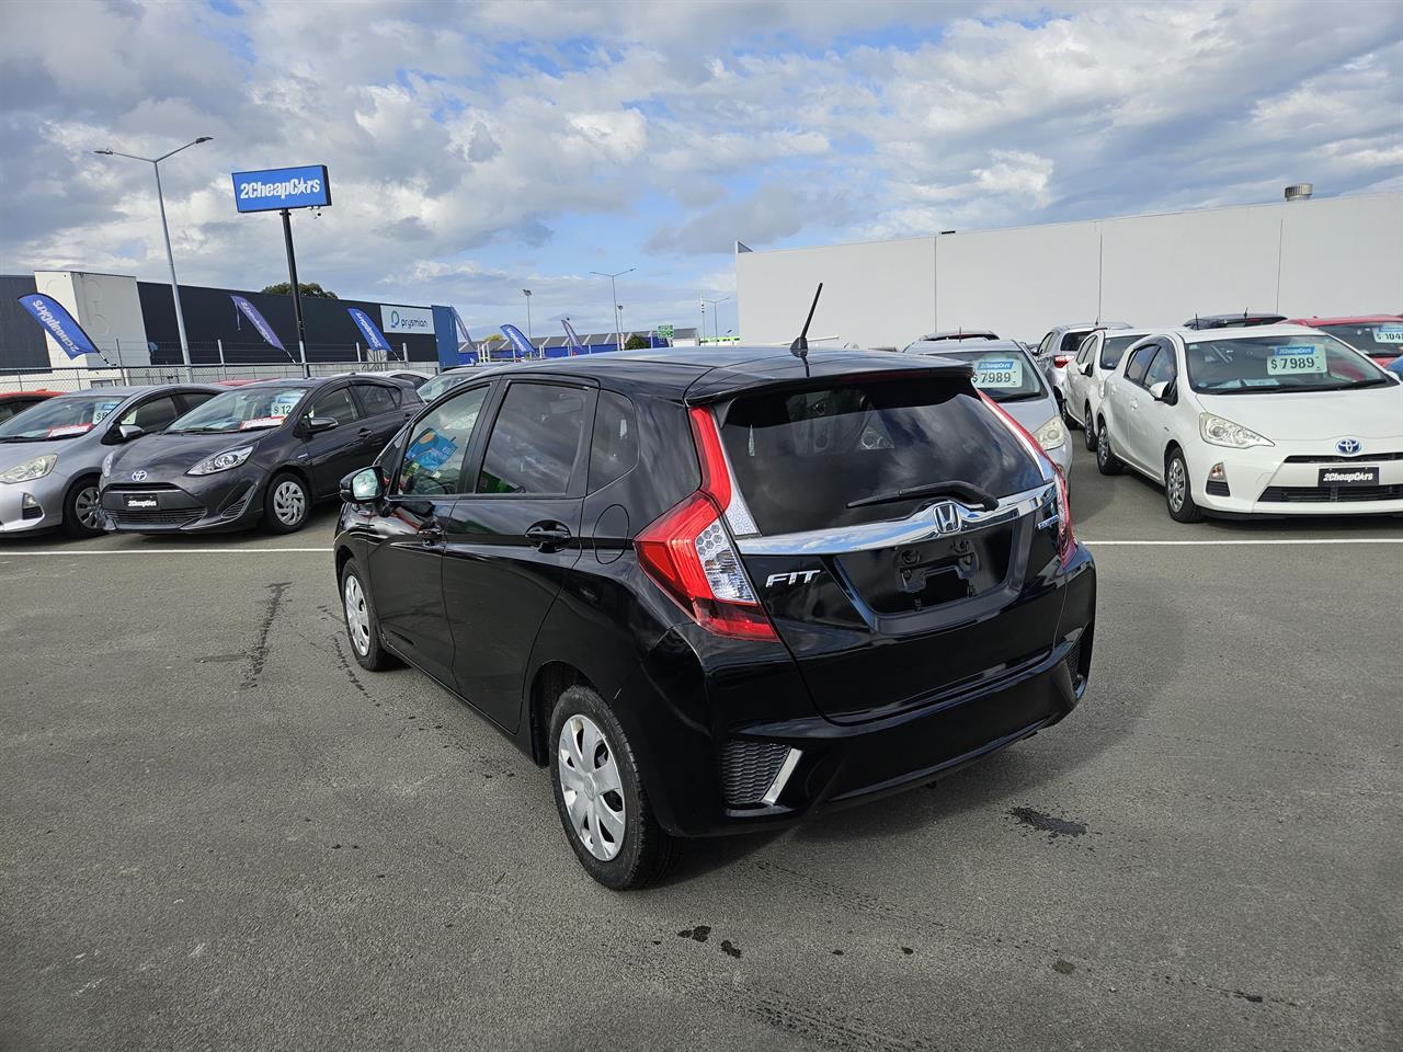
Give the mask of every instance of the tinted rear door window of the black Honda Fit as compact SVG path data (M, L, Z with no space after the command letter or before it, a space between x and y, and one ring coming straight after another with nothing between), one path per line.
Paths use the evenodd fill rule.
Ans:
M586 391L513 383L487 442L480 494L564 495L585 435Z

